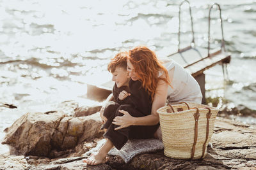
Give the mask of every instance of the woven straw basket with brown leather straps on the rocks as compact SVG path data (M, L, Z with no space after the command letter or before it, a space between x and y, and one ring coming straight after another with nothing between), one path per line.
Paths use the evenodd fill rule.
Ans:
M159 108L164 155L175 159L204 158L218 111L204 104L184 102Z

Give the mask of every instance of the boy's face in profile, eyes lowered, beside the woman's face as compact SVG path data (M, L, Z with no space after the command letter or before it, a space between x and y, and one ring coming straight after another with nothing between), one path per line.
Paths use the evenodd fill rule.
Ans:
M128 85L129 80L130 78L126 69L123 67L116 67L116 70L112 73L112 81L115 81L116 86L119 88Z

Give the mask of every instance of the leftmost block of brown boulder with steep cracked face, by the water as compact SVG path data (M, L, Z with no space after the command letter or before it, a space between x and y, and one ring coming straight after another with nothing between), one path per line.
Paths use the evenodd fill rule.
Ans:
M61 114L26 113L6 130L2 144L12 146L11 155L46 156L51 150L51 138Z

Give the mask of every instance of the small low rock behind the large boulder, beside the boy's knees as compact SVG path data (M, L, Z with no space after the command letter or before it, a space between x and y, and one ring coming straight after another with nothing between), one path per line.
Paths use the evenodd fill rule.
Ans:
M100 111L102 106L81 106L76 108L74 117L86 117Z

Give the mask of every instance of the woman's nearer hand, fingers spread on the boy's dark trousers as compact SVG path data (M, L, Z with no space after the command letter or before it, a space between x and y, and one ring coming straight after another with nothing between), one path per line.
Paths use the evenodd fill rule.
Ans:
M123 113L124 115L122 117L114 118L112 124L120 125L119 127L116 127L115 130L129 127L133 123L133 117L127 111L119 110L119 112Z

